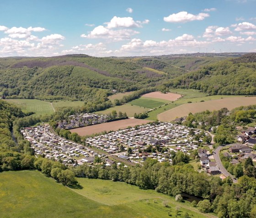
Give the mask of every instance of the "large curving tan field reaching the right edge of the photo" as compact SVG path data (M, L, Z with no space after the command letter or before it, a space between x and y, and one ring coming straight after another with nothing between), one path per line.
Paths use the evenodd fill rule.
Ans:
M174 120L176 117L187 116L190 112L197 113L205 110L213 111L219 110L223 107L231 110L238 106L248 106L253 104L256 104L256 97L230 97L205 102L187 103L160 113L157 118L160 121L168 122Z

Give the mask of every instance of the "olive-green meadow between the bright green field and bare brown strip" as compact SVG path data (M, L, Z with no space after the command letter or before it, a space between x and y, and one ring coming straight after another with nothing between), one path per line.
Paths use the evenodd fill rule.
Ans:
M127 116L128 117L133 117L134 113L142 113L142 112L145 112L145 111L148 111L147 108L143 108L143 107L139 107L139 106L133 106L133 105L128 105L128 104L124 104L124 105L121 105L121 106L114 106L114 107L110 107L104 111L98 111L96 113L99 113L99 114L107 114L107 113L111 113L112 111L117 111L117 113L119 111L121 112L126 112Z

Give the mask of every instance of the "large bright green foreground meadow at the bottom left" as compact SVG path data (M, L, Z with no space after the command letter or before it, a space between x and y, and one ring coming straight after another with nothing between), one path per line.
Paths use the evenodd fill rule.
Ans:
M175 217L178 207L178 217L188 212L195 218L216 218L154 190L105 180L78 180L83 188L69 189L38 171L1 172L0 217L168 218L168 212Z

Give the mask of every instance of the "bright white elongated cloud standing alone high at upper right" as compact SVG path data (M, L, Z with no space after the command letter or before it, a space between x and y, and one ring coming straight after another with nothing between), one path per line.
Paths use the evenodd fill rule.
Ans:
M208 16L210 15L206 13L199 13L198 15L192 15L187 13L187 11L181 11L177 14L172 14L172 15L169 15L168 17L164 17L164 20L166 22L172 22L172 23L177 23L177 22L185 23L193 20L204 20L204 18Z

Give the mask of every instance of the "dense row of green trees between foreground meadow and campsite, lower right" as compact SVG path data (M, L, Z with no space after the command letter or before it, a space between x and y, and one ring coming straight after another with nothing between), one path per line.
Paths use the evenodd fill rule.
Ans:
M82 165L72 169L76 177L111 179L136 185L142 189L155 189L157 192L176 196L181 193L204 198L197 208L203 213L214 212L219 218L255 218L256 180L242 176L238 183L227 177L209 177L195 172L190 164L169 166L148 158L143 167L102 167ZM193 205L196 205L193 202Z

